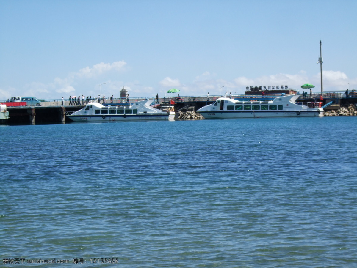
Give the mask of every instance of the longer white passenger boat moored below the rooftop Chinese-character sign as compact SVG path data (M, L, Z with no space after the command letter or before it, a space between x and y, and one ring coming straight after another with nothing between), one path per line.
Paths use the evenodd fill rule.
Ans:
M323 116L322 108L296 103L300 95L280 96L267 101L239 101L226 97L197 110L204 118L260 118Z

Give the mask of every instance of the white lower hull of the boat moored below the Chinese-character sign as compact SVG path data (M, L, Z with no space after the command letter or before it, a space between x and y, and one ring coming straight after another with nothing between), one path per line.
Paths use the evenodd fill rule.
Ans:
M271 117L318 117L323 116L319 110L313 111L220 111L199 112L204 118L271 118Z

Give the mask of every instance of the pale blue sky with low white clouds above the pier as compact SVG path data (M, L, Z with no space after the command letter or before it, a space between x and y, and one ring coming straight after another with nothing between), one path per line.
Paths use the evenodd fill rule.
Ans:
M1 0L0 100L98 96L101 83L106 97L320 92L320 40L324 91L357 89L356 10L353 0Z

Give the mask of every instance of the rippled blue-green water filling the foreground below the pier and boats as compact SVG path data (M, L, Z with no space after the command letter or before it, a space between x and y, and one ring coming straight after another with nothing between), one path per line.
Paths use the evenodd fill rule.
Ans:
M1 126L1 267L356 267L356 117Z

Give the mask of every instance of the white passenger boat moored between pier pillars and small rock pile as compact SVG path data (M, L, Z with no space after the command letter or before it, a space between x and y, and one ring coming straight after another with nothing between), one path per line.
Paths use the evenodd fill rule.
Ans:
M168 120L175 118L175 112L165 112L151 107L153 99L140 100L130 103L116 103L104 106L91 102L76 112L66 112L66 116L73 121L132 121L132 120Z

